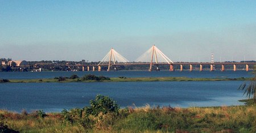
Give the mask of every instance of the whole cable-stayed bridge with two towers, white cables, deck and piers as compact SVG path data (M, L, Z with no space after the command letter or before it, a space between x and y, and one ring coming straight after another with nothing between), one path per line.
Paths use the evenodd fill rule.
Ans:
M213 55L212 55L213 56ZM254 62L214 62L213 57L211 62L172 62L161 50L159 50L155 45L144 52L140 57L135 59L135 61L130 62L128 59L123 57L113 48L105 55L98 65L66 65L82 67L82 71L85 70L87 66L87 71L92 67L92 71L101 71L102 66L108 66L107 71L110 68L117 70L116 66L128 66L128 65L149 65L148 71L152 71L152 66L156 66L156 71L160 71L158 65L170 65L170 71L174 71L174 65L180 65L180 71L183 71L184 65L189 65L189 71L193 70L193 65L200 65L200 71L203 71L203 65L210 65L210 71L215 70L215 65L221 65L221 71L225 70L225 65L233 65L233 70L236 71L236 65L245 65L246 71L249 71L249 65L256 65Z

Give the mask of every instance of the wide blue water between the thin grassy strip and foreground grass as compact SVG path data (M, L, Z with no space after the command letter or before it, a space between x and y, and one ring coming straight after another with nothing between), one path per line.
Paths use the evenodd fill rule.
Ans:
M20 112L82 108L97 94L108 95L126 106L241 105L237 88L242 81L164 81L119 83L2 83L0 109Z

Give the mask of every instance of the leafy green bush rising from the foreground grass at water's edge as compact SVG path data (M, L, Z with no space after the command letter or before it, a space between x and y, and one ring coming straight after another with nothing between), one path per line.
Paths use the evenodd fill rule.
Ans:
M84 128L98 128L109 130L118 118L119 105L115 104L109 96L97 95L95 100L90 100L90 106L83 109L71 109L61 111L65 122L78 123ZM122 115L127 115L122 112Z

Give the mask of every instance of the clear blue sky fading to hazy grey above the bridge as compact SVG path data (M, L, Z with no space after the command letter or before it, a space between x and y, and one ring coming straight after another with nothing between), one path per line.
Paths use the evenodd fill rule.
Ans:
M156 45L174 62L256 60L256 1L0 0L0 58L129 61Z

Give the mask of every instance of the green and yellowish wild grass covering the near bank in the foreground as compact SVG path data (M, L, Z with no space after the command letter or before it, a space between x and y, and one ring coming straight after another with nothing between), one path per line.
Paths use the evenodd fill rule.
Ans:
M129 108L118 115L100 114L88 119L60 113L39 117L35 113L0 111L0 121L20 132L256 132L256 106L209 108Z

